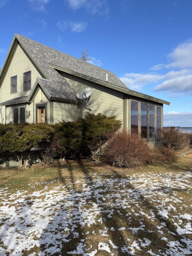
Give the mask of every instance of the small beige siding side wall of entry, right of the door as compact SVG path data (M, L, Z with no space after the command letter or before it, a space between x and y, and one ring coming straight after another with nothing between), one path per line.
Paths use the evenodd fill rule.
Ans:
M53 122L58 123L62 121L70 120L71 105L67 102L53 102Z

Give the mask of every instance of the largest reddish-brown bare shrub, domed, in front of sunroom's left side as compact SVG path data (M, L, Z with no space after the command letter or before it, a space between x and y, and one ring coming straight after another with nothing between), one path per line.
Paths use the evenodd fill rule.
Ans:
M104 148L104 162L115 167L134 167L151 163L152 152L148 143L137 134L120 130Z

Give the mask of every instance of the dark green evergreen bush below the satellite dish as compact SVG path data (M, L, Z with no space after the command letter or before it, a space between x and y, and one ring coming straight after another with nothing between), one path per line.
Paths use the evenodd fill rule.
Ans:
M92 159L98 160L103 144L110 134L121 127L121 121L115 116L87 113L84 119L76 122L61 122L55 125L61 147L65 154L80 158L82 149L88 148Z

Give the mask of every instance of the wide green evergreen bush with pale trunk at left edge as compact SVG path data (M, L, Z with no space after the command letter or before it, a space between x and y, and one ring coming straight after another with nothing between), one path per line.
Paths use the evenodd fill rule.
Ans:
M0 126L0 154L16 155L19 161L19 168L29 167L30 151L38 148L39 143L50 141L54 133L51 125L47 123L33 124L12 124ZM24 164L22 164L25 155Z

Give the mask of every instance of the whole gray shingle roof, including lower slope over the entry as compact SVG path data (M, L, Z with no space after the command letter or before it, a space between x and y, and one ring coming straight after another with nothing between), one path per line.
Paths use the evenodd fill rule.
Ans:
M47 92L56 98L73 99L76 93L67 83L64 77L56 71L52 65L73 71L75 73L91 77L102 82L106 82L106 73L108 74L108 83L128 89L122 81L116 77L113 72L99 68L93 64L77 59L73 56L54 50L46 45L40 44L22 35L16 34L28 52L32 55L38 65L50 80L41 79Z

